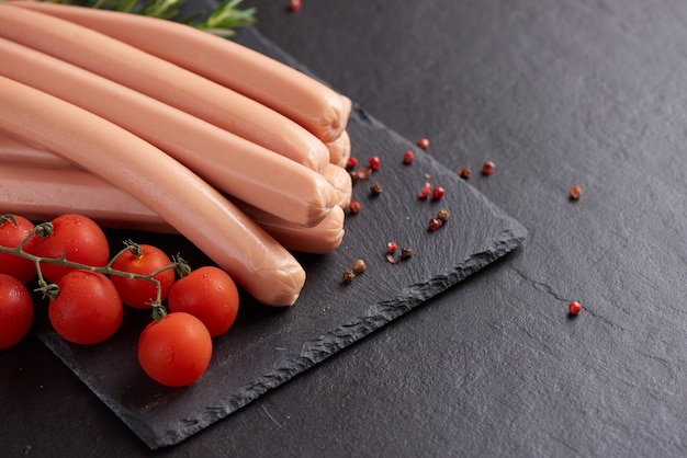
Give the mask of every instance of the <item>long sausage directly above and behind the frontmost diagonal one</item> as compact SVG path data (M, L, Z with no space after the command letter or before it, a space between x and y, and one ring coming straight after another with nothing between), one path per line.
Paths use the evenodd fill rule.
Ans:
M314 226L337 203L319 173L122 84L3 38L0 61L0 75L131 130L214 187L280 218Z

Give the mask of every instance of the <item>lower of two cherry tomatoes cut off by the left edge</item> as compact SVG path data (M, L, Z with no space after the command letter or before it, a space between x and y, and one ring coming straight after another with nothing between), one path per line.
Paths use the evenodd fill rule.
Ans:
M0 350L21 342L33 321L33 300L24 284L0 274Z

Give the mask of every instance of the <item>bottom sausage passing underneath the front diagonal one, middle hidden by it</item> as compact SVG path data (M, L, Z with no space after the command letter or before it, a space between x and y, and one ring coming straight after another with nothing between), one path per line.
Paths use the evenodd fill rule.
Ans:
M0 137L0 151L4 138ZM31 147L23 146L22 150L30 151ZM74 167L41 167L16 159L3 158L0 153L0 208L3 213L38 221L77 213L103 227L178 233L140 201L90 172ZM236 204L288 250L325 254L336 250L344 240L345 214L340 207L335 207L317 226L305 228L245 203Z

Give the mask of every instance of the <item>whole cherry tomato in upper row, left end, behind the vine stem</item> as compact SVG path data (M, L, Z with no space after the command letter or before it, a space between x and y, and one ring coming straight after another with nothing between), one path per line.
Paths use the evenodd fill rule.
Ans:
M75 214L60 215L50 221L53 233L38 237L27 252L41 257L57 259L102 267L110 262L110 247L104 232L92 219ZM43 276L56 283L72 267L55 264L41 264Z

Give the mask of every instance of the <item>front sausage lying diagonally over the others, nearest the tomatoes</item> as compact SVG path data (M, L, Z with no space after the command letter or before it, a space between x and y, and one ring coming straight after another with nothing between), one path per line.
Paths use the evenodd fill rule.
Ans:
M167 153L102 117L5 77L0 77L0 125L10 135L40 144L139 199L258 301L296 301L305 271L293 255Z

